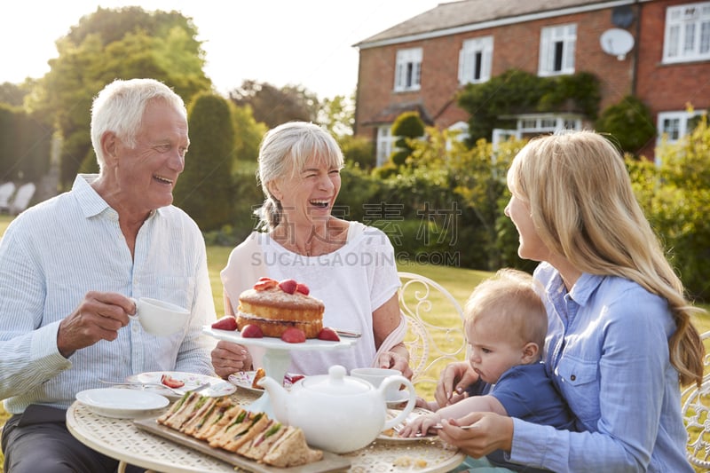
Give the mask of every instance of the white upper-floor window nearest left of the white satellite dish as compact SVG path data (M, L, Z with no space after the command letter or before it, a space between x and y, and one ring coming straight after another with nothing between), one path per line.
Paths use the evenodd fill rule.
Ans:
M574 74L576 44L576 23L541 28L538 75Z

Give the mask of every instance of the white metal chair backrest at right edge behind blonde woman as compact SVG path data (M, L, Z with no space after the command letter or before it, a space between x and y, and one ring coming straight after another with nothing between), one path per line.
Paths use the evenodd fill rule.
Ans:
M706 375L698 389L695 384L682 392L682 416L688 430L688 460L703 470L710 469L710 332L700 335L705 344Z

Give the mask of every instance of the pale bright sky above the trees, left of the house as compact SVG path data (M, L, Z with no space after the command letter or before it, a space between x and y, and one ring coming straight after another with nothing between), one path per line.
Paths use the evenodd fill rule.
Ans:
M358 80L358 49L371 35L450 0L2 0L0 83L49 72L55 41L84 15L138 5L192 17L209 76L226 93L244 80L301 85L320 99L349 97Z

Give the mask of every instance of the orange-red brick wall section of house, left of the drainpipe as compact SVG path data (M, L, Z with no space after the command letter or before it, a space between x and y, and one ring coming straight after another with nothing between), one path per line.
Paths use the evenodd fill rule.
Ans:
M435 39L401 43L359 53L359 98L356 133L372 137L372 127L363 125L393 104L420 103L440 128L468 120L468 114L455 106L459 90L458 63L461 43L465 39L493 35L493 75L510 68L533 74L538 70L540 28L566 23L577 24L575 69L596 74L602 84L602 103L616 103L630 93L634 71L634 54L619 60L602 51L599 36L613 28L611 10L577 13L565 17L529 21L517 25L479 30ZM635 23L630 27L635 34ZM422 89L414 92L394 92L394 67L400 49L422 47Z

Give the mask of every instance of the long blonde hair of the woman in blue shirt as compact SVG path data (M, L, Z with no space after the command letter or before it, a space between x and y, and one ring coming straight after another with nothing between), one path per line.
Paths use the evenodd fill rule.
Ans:
M580 271L633 280L667 300L676 325L670 361L682 384L699 386L705 349L690 316L703 310L685 299L617 148L593 131L534 138L513 160L508 185L529 203L533 225L551 251Z

